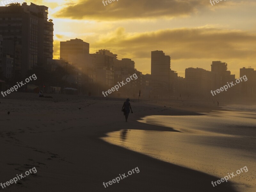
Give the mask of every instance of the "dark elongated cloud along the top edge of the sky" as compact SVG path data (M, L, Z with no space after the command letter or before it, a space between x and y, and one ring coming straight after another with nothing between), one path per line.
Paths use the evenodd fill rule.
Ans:
M106 3L105 3L106 4ZM198 8L209 6L201 0L119 0L106 6L101 0L83 0L68 5L55 14L59 18L86 20L172 18L197 12Z

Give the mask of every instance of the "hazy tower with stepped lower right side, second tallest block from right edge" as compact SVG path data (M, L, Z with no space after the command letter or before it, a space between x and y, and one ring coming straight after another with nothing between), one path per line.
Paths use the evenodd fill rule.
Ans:
M214 86L216 88L235 80L235 75L228 71L228 64L221 61L212 61L211 71L214 74Z

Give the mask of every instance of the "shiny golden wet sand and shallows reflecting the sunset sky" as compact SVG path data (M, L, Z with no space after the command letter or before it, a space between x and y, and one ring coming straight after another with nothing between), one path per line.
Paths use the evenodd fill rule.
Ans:
M219 178L244 167L242 173L228 182L234 182L240 192L254 192L255 120L255 113L238 111L202 116L147 116L139 122L172 127L177 132L129 129L108 133L103 140Z

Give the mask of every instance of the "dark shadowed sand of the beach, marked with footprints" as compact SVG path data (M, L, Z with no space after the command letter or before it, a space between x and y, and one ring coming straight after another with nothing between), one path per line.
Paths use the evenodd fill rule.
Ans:
M141 121L148 116L201 116L199 113L221 110L216 105L192 101L132 100L134 113L129 115L126 123L121 112L124 99L58 94L52 94L53 99L49 99L39 98L33 93L15 92L8 96L10 97L0 98L2 146L0 182L11 180L16 174L24 173L32 167L36 167L37 172L19 180L19 184L0 187L0 190L10 192L87 190L235 192L240 190L235 185L235 179L213 187L211 182L220 179L216 176L216 172L184 166L186 161L177 164L175 158L172 162L153 158L144 151L136 151L102 139L111 138L109 134L115 132L120 135L123 130L132 130L135 133L168 132L177 135L180 130L138 120ZM8 111L10 115L7 114ZM150 134L152 136L152 133ZM218 135L218 133L214 134ZM181 138L175 139L181 142ZM149 143L151 141L155 142L154 139L147 140ZM151 145L159 144L151 143ZM139 146L138 143L136 146ZM198 144L198 147L202 146ZM250 154L247 152L247 155ZM187 158L192 159L189 156ZM239 175L240 178L255 173L255 166L246 163L245 161L235 166L236 169L245 165L248 167L249 171ZM217 162L214 165L226 164ZM107 188L103 186L103 182L115 179L119 174L127 174L135 167L139 168L139 173L134 173ZM223 177L225 175L226 172L223 172ZM251 183L255 185L255 181L252 180Z

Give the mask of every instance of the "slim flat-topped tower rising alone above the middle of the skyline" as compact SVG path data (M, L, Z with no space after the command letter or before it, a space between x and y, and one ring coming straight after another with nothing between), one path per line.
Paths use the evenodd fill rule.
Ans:
M163 51L151 52L151 84L170 90L171 57Z

